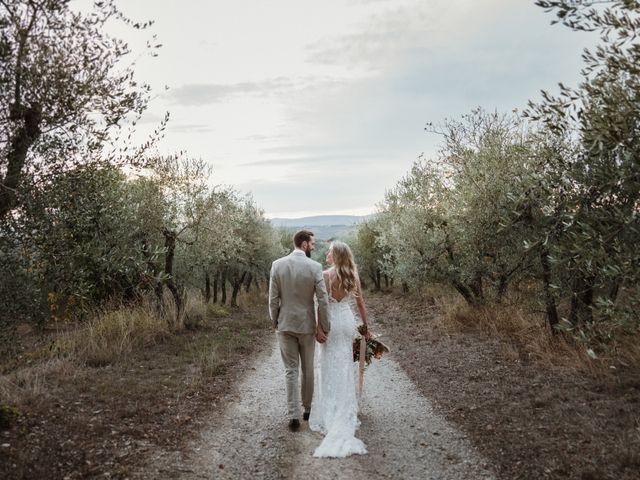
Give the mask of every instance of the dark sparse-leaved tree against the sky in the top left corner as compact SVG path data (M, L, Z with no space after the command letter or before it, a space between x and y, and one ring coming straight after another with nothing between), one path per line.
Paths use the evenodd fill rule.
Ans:
M86 13L69 0L0 1L0 218L19 206L25 177L114 161L108 148L122 147L126 120L145 110L149 87L122 64L127 44L104 33L111 20L149 25L114 0Z

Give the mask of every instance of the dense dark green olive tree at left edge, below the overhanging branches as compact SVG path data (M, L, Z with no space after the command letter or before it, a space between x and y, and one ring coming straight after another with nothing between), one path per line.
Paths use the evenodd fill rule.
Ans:
M2 223L0 251L22 285L4 283L10 304L32 320L81 313L112 299L134 300L145 290L145 219L141 191L114 167L77 167L32 185L20 215ZM157 200L157 199L156 199ZM30 298L31 302L25 302ZM28 307L27 303L31 303Z

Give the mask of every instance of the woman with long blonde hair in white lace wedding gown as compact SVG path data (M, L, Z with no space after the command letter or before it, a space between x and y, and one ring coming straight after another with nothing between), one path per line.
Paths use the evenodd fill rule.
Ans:
M349 301L355 298L365 326L367 314L349 246L333 242L327 251L327 263L332 265L323 272L329 293L331 333L318 349L319 372L309 428L325 434L313 453L314 457L347 457L367 453L366 445L355 437L360 425L353 362L353 339L357 330ZM319 334L322 337L322 332Z

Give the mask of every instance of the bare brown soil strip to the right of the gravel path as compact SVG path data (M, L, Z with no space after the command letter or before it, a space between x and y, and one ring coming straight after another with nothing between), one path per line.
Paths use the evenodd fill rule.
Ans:
M424 300L369 295L374 330L437 412L466 432L504 479L640 478L640 371L597 377L549 367L505 338L443 334ZM509 343L509 348L505 344Z

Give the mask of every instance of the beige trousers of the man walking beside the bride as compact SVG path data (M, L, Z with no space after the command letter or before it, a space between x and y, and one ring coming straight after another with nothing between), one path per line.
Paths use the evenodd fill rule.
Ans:
M287 385L287 412L289 418L300 418L300 396L298 395L298 371L302 366L302 406L311 410L313 398L313 352L315 336L312 333L276 332L280 354L284 363Z

